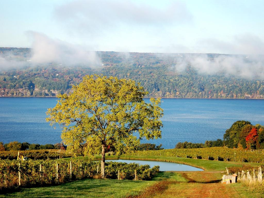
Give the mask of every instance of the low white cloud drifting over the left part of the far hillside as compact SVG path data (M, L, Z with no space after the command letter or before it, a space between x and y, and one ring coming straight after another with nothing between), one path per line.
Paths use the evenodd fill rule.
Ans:
M68 66L97 67L101 60L96 51L88 51L86 46L74 45L58 39L51 39L39 32L27 31L26 35L31 40L31 55L27 59L6 58L10 54L0 56L0 70L19 69L24 66L37 66L50 64Z

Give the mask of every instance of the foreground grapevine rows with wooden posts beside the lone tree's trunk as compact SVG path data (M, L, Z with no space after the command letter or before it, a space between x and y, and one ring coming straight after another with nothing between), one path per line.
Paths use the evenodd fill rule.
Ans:
M19 166L20 163L20 166ZM58 163L58 180L56 167ZM41 165L41 171L40 171ZM98 167L98 173L97 173ZM70 175L69 161L56 160L0 160L0 190L18 187L18 175L21 173L21 186L41 186L64 183L70 180L82 178L98 178L101 174L101 162L84 161L81 159L72 160L72 176ZM136 163L106 162L105 177L117 179L150 180L158 171L159 166L150 168L149 165Z

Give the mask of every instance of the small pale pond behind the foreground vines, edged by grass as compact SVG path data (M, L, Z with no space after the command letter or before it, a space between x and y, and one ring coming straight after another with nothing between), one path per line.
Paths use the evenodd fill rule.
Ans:
M149 164L152 168L153 166L159 166L160 171L203 171L201 168L196 168L193 166L188 166L185 164L177 164L173 162L159 162L159 161L143 161L143 160L106 160L106 162L125 162L125 163L137 163L141 165Z

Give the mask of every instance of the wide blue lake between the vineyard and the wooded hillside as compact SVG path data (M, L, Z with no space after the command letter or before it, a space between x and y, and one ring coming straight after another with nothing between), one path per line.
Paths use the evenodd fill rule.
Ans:
M61 128L49 126L46 111L53 97L0 97L0 142L38 144L61 142ZM149 99L145 99L149 102ZM142 143L174 148L178 142L204 143L223 139L225 130L237 120L264 125L264 100L164 98L162 138Z

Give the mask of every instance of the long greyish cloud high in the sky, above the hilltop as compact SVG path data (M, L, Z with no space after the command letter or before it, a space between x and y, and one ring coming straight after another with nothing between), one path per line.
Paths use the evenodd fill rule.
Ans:
M123 28L145 30L149 26L173 26L192 21L185 3L172 1L162 8L153 4L76 0L56 7L54 15L71 34L84 37L106 35L108 31L118 32Z

